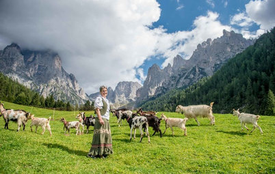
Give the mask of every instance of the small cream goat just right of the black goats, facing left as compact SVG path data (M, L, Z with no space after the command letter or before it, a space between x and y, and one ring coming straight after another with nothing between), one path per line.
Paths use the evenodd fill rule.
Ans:
M184 136L187 136L187 128L185 127L187 118L179 119L179 118L168 118L163 113L161 114L161 119L166 122L165 130L163 134L165 134L168 127L172 130L172 135L174 136L174 130L172 127L181 128L184 131Z

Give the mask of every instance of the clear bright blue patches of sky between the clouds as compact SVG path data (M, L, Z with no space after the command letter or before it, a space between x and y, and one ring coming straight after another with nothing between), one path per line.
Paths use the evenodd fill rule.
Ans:
M167 33L177 31L191 31L193 22L198 16L206 16L207 12L213 11L220 14L218 20L224 25L230 25L231 18L240 12L246 12L245 5L249 0L234 0L234 1L205 1L205 0L157 0L161 8L161 16L157 22L150 26L151 29L163 26ZM275 17L275 16L274 16ZM238 25L234 25L236 29L241 29ZM254 23L248 27L249 31L257 31L259 25ZM213 38L212 38L213 39ZM157 63L161 66L163 59L158 57L150 57L146 59L140 68L144 69L144 74L147 74L148 68Z

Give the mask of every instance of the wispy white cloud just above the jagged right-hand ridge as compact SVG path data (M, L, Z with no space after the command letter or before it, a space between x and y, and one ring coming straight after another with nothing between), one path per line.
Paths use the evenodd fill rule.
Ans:
M168 63L172 64L175 55L178 54L182 55L185 59L189 59L198 44L208 38L215 39L220 37L223 29L231 31L231 27L222 25L218 21L218 16L215 12L208 12L207 16L198 16L194 20L194 29L192 31L178 31L172 34L159 31L157 53L166 57L162 67L167 66Z

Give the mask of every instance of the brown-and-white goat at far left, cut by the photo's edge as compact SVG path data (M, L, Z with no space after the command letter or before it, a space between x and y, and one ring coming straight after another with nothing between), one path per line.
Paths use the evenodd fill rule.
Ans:
M23 125L23 130L25 130L25 126L27 124L27 117L30 113L27 113L24 110L13 110L13 109L5 109L3 103L0 102L0 110L1 115L3 115L3 119L5 121L5 128L8 128L9 121L16 121L17 122L17 132L20 130L21 126Z

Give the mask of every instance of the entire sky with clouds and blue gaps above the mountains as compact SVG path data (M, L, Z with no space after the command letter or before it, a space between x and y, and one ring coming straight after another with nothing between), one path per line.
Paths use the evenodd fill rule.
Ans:
M223 29L258 38L275 27L274 0L0 0L0 50L57 52L88 94L192 56Z

